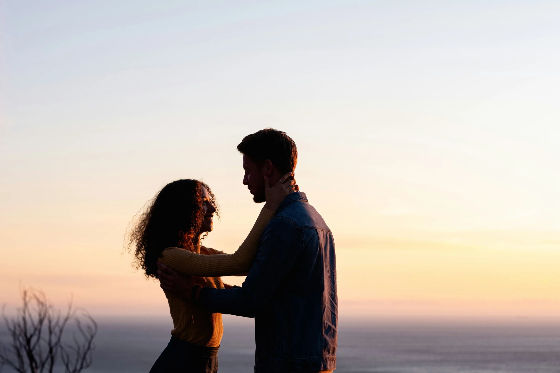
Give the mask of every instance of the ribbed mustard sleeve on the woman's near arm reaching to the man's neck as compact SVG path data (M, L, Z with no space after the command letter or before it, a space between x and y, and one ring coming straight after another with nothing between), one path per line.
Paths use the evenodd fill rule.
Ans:
M200 255L168 247L161 253L159 261L184 275L196 277L231 276L247 272L253 264L260 235L274 214L274 211L263 207L253 229L233 254Z

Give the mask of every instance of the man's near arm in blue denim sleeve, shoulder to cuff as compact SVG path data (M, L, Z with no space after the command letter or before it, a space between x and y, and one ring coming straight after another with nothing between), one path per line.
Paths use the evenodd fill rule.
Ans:
M198 303L212 313L255 317L290 271L302 248L301 232L291 221L270 220L242 287L226 290L203 287L197 292Z

